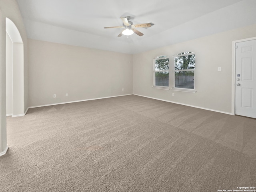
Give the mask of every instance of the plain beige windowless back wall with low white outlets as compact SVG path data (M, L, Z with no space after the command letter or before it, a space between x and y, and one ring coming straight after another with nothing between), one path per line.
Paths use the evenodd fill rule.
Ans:
M30 106L132 94L132 55L28 42Z

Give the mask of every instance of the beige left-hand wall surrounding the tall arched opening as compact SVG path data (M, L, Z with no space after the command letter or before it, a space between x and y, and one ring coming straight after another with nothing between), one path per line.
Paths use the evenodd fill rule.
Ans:
M0 155L8 149L6 137L6 17L18 28L24 42L24 105L28 107L27 36L16 0L0 0Z

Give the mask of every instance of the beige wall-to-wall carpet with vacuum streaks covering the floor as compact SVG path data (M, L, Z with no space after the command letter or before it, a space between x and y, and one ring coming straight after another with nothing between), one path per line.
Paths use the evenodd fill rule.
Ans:
M256 186L256 120L130 95L7 118L1 192Z

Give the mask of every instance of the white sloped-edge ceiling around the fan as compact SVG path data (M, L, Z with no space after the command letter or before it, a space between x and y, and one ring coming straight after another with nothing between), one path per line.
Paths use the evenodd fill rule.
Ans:
M128 54L256 23L256 0L17 0L28 38ZM117 37L120 16L143 36Z

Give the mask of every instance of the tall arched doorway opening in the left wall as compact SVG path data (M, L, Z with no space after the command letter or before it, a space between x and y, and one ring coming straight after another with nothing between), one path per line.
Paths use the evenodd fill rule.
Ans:
M6 18L6 114L24 115L24 45L16 25Z

